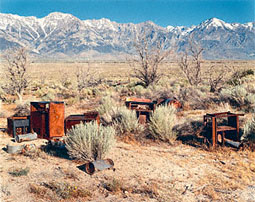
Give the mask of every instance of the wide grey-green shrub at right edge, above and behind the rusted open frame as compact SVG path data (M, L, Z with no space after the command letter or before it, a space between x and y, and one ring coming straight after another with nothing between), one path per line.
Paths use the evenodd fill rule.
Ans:
M220 99L246 111L253 111L255 107L255 95L252 89L248 89L244 85L223 89L220 93Z

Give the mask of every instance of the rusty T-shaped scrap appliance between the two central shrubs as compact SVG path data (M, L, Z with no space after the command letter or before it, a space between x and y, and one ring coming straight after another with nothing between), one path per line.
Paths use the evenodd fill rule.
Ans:
M128 109L136 111L138 121L141 124L150 120L150 115L156 108L156 102L152 102L150 99L128 98L125 104Z

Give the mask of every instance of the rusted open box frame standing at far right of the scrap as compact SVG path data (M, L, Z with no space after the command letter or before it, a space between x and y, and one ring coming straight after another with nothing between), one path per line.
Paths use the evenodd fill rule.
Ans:
M217 144L224 146L225 143L239 147L239 116L244 116L244 114L234 114L228 111L204 115L206 136L212 140L213 148ZM226 123L219 124L218 120L224 118L227 119Z

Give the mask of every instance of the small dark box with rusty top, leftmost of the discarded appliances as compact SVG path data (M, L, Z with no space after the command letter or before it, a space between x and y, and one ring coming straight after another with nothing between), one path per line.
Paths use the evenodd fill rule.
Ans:
M14 138L18 134L26 134L30 132L30 117L29 116L12 116L7 118L7 132Z

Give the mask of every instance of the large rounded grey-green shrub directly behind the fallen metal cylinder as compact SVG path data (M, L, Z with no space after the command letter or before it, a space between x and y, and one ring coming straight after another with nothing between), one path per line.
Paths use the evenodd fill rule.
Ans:
M115 129L96 122L79 124L69 130L66 148L72 158L80 160L102 159L115 142Z

